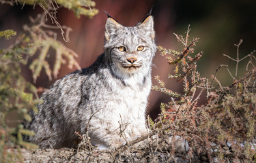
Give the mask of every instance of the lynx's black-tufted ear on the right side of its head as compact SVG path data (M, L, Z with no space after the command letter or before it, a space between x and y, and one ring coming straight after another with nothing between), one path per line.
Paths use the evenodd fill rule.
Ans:
M150 36L152 39L155 37L154 20L153 16L147 16L141 24L138 25L139 29L145 31L145 35Z

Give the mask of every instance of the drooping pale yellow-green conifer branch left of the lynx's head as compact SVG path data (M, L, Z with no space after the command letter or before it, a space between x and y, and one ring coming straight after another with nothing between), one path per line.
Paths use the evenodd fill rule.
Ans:
M38 54L38 58L35 58L33 62L31 62L31 65L29 65L29 69L31 69L33 73L33 82L36 82L37 77L40 76L42 68L44 68L50 80L52 79L52 75L56 78L61 64L65 64L66 60L68 60L68 67L70 69L72 69L73 66L75 66L76 69L81 69L79 63L75 60L75 57L78 55L66 48L61 41L57 41L55 38L49 36L48 33L42 29L40 25L45 21L45 17L42 15L40 18L38 16L38 19L35 20L36 24L33 26L25 26L25 31L27 31L29 35L20 37L22 44L18 44L19 48L23 48L24 45L26 46L24 53L29 54L29 56ZM53 69L50 68L46 60L46 56L48 56L48 52L51 48L55 50Z

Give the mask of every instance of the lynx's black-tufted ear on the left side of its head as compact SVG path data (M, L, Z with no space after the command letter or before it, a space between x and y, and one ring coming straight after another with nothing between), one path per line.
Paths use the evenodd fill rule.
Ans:
M122 29L124 26L119 24L114 18L108 15L108 19L106 20L106 25L105 25L105 39L106 41L109 41L110 37L112 35L116 35L116 31L119 29Z

